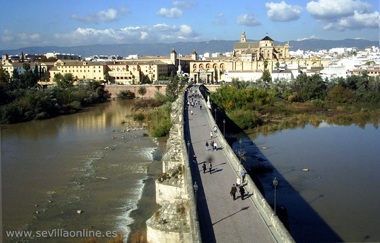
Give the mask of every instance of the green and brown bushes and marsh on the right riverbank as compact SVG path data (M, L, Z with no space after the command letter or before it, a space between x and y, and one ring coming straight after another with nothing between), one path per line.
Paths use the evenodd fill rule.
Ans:
M270 75L256 83L235 79L210 94L211 101L242 129L274 131L322 121L376 127L380 121L380 79L360 75L325 79L299 75L290 82Z

